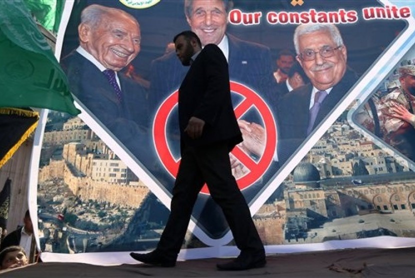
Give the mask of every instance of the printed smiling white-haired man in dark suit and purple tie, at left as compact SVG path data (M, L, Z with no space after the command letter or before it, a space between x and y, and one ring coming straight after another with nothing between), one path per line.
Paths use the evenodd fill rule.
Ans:
M133 154L146 153L146 90L120 72L140 51L138 21L121 9L91 4L81 12L78 39L60 60L71 92Z

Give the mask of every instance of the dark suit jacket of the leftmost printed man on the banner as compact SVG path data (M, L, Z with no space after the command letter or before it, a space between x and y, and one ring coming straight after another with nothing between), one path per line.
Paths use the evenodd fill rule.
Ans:
M62 58L71 92L104 127L115 135L138 159L151 163L148 156L147 92L143 86L118 73L122 100L119 101L105 75L77 51Z

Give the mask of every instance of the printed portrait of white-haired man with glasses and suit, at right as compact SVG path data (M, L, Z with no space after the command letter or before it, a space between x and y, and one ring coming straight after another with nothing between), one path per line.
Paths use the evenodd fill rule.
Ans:
M357 74L347 68L347 49L335 25L298 25L293 41L296 59L311 83L287 93L278 103L280 164L357 81Z

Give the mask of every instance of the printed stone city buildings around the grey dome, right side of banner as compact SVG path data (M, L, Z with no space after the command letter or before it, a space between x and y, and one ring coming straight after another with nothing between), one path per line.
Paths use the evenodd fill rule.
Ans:
M314 235L310 230L321 229L339 218L343 218L344 226L330 225L335 239L357 238L367 227L351 220L347 223L347 219L368 214L378 215L374 235L415 234L415 175L407 164L398 163L345 122L333 124L295 167L285 180L283 199L287 209L284 235L288 242L299 238L307 241ZM402 224L405 228L395 225L396 228L385 229L382 222L386 218L394 221L391 214L411 218L405 218L409 219ZM363 218L358 223L364 223ZM333 238L320 237L327 239Z

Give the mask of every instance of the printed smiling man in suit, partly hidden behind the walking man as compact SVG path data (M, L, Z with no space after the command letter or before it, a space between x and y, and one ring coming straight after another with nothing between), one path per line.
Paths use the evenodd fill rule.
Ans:
M185 19L200 38L202 46L214 43L222 50L229 64L230 80L241 82L260 95L272 95L276 81L269 48L226 31L227 15L233 2L184 0L183 4ZM153 107L157 107L178 88L187 70L177 61L174 52L152 61L149 99Z

